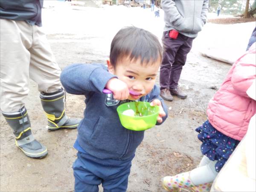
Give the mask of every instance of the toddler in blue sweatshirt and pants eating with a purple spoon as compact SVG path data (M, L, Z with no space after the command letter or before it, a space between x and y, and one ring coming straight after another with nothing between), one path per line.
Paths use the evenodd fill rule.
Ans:
M167 117L167 107L155 85L162 59L157 37L144 29L126 27L111 43L108 67L103 64L72 64L61 73L68 93L86 96L84 118L74 144L75 192L125 192L131 161L144 137L144 131L124 128L116 108L125 102L145 101L159 105L157 124ZM103 89L113 94L104 94ZM138 93L131 95L129 91Z

